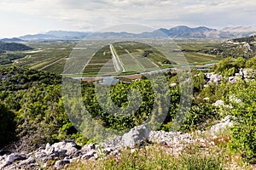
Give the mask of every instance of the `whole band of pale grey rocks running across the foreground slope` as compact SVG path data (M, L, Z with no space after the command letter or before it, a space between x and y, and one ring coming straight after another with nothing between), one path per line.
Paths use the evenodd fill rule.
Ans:
M214 125L210 132L215 135L220 129L231 125L231 118L226 117L222 122ZM101 156L120 156L120 150L123 147L134 148L145 139L149 142L166 145L166 151L172 151L173 154L179 154L187 144L199 144L200 147L214 144L208 142L207 139L197 139L189 133L150 131L148 125L144 124L101 145L85 144L83 147L79 147L72 140L66 140L55 144L46 144L45 148L39 148L32 153L5 154L0 156L0 169L47 169L49 167L63 169L68 164L80 160L96 160ZM136 147L132 150L136 150Z

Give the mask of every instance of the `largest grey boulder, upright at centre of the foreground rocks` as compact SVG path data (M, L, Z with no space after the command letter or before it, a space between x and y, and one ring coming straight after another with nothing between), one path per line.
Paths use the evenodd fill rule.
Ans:
M131 128L128 133L123 135L121 142L125 147L134 147L143 140L148 139L150 131L148 124Z

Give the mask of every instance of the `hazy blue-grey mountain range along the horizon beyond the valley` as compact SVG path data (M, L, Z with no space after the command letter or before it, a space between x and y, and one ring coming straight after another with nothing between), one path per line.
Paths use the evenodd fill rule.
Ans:
M5 38L3 42L22 42L30 40L80 40L84 37L90 37L92 32L82 31L48 31L44 34L26 35L19 38ZM205 26L191 28L189 26L176 26L171 29L160 28L153 32L143 32L134 34L129 32L96 32L94 38L221 38L232 39L239 37L250 37L256 35L256 26L249 27L227 27L222 30L207 28Z

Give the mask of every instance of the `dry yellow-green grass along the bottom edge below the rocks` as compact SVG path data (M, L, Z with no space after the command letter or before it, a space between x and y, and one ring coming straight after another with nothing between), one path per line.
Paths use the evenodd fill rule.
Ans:
M173 156L163 146L149 146L131 150L122 150L121 156L109 156L97 161L80 161L67 169L224 169L226 159L218 154L189 154L183 152Z

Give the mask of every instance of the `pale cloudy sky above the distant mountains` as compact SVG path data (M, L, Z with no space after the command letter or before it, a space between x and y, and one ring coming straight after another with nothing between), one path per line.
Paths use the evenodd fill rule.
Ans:
M96 31L124 23L255 26L255 0L0 0L0 37L50 30Z

